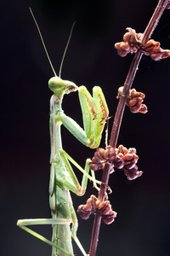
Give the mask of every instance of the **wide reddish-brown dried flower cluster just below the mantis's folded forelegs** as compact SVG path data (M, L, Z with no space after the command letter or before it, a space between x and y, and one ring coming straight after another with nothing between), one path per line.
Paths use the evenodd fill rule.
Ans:
M111 172L114 172L114 167L123 169L127 179L132 180L142 175L143 172L138 171L136 163L139 156L136 154L135 148L125 148L120 145L114 149L108 146L107 149L97 148L92 161L89 163L90 169L98 171L104 169L106 164L111 166Z

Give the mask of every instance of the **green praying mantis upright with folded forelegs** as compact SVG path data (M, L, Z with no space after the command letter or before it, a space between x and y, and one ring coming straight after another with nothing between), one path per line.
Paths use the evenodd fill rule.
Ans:
M35 20L32 12L31 15ZM35 22L37 25L36 20ZM42 34L38 26L37 29L42 39ZM43 39L42 44L48 56ZM54 67L49 56L48 61L54 71ZM87 188L88 178L94 182L94 187L96 187L96 189L98 189L97 183L100 182L95 180L94 173L92 171L92 176L88 174L88 164L91 161L90 159L86 160L85 168L82 169L82 167L65 152L62 148L60 130L61 125L64 125L65 128L68 129L68 131L70 131L71 134L82 144L89 148L97 148L104 130L105 120L108 119L109 111L105 102L105 96L99 86L94 86L93 96L91 96L85 86L78 87L71 81L60 79L59 71L59 77L54 72L54 78L49 79L48 87L54 92L50 100L49 120L51 141L49 205L51 208L52 218L20 219L18 220L17 225L20 226L21 229L29 232L32 236L36 236L38 239L51 245L53 247L52 256L72 256L74 253L71 238L76 241L77 246L85 256L87 253L84 251L82 244L77 238L77 215L72 205L70 190L77 195L83 195ZM82 108L84 130L75 120L65 115L61 106L65 94L69 94L74 91L78 91L80 105ZM83 173L82 185L78 182L70 162ZM37 232L27 227L27 225L35 224L52 224L52 241L49 241L44 236L39 235Z

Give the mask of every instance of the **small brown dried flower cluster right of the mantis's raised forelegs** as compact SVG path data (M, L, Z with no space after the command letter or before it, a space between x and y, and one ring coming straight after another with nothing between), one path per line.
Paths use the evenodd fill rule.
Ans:
M120 96L123 96L122 90L123 87L121 86L118 90L118 96L116 96L117 99ZM129 91L129 96L127 97L127 106L130 108L132 113L147 113L148 110L146 105L142 104L142 102L144 102L144 97L144 93L136 91L135 89Z

